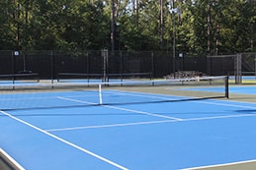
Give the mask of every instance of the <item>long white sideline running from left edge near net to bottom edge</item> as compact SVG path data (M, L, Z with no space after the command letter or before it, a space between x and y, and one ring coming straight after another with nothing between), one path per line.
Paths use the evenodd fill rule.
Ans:
M120 165L120 164L117 164L117 163L115 163L115 162L113 162L113 161L111 161L111 160L109 160L109 159L107 159L107 158L105 158L105 157L102 157L102 156L100 156L100 155L98 155L98 154L96 154L96 153L94 153L94 152L92 152L92 151L90 151L90 150L87 150L87 149L85 149L85 148L83 148L83 147L81 147L81 146L79 146L79 145L76 145L76 144L74 144L74 143L72 143L72 142L68 142L68 141L65 141L65 140L63 140L63 139L57 137L57 136L54 136L54 135L52 135L52 134L50 134L50 133L48 133L48 132L46 132L46 131L40 129L39 127L36 127L36 126L34 126L34 125L32 125L32 124L30 124L30 123L28 123L28 122L25 122L25 121L23 121L23 120L21 120L21 119L15 117L15 116L12 116L11 114L8 114L8 113L5 112L5 111L0 110L0 112L1 112L2 114L6 115L6 116L8 116L8 117L10 117L10 118L12 118L12 119L18 121L18 122L21 122L22 124L25 124L25 125L27 125L27 126L33 128L33 129L35 129L35 130L37 130L37 131L40 131L41 133L43 133L43 134L45 134L45 135L47 135L47 136L49 136L49 137L51 137L51 138L53 138L53 139L55 139L55 140L57 140L57 141L64 142L64 143L66 143L66 144L68 144L68 145L70 145L70 146L72 146L72 147L75 147L75 148L77 148L77 149L79 149L79 150L81 150L81 151L83 151L83 152L85 152L85 153L87 153L87 154L90 154L91 156L94 156L94 157L96 157L96 158L98 158L98 159L100 159L100 160L102 160L102 161L104 161L104 162L106 162L106 163L109 163L109 164L111 164L111 165L113 165L113 166L115 166L115 167L117 167L117 168L119 168L119 169L128 170L128 168L126 168L126 167L124 167L124 166L122 166L122 165Z

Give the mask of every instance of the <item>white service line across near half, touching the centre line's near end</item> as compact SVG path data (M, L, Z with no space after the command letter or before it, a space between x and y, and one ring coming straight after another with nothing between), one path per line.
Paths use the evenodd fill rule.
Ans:
M255 114L213 116L213 117L183 119L182 122L239 118L239 117L255 117L255 116L256 116ZM179 121L179 120L163 120L163 121L134 122L134 123L124 123L124 124L109 124L109 125L98 125L98 126L95 125L95 126L84 126L84 127L73 127L73 128L48 129L48 130L44 130L44 131L46 131L46 132L74 131L74 130L84 130L84 129L100 129L100 128L128 127L128 126L137 126L137 125L162 124L162 123L171 123L171 122L181 122L181 121Z

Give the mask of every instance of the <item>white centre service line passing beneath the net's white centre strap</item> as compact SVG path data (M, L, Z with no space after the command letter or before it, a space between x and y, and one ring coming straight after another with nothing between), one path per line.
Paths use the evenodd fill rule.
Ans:
M68 101L74 101L78 103L84 103L84 104L97 104L93 102L88 102L88 101L83 101L83 100L77 100L77 99L72 99L72 98L67 98L67 97L61 97L58 96L57 98L63 99L63 100L68 100ZM100 104L99 104L100 105ZM149 115L149 116L154 116L154 117L159 117L159 118L165 118L165 119L172 119L172 120L177 120L177 121L182 121L180 118L176 117L170 117L170 116L164 116L164 115L159 115L159 114L153 114L149 112L144 112L144 111L139 111L139 110L133 110L133 109L127 109L127 108L122 108L122 107L117 107L117 106L110 106L110 105L100 105L102 107L106 108L111 108L111 109L116 109L116 110L122 110L122 111L127 111L127 112L132 112L132 113L139 113L139 114L144 114L144 115Z

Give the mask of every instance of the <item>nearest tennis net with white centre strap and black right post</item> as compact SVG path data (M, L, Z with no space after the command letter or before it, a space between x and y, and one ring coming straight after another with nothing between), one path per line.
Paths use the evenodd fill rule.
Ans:
M2 85L0 110L142 104L228 97L228 77Z

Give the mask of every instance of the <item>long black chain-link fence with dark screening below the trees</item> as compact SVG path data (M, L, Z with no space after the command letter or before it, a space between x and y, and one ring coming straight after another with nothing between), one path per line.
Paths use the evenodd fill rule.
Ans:
M255 54L242 55L242 72L255 73L255 58ZM0 51L0 68L2 79L4 75L33 73L41 80L58 79L59 76L75 78L75 74L92 78L123 75L158 79L233 75L235 63L233 57L189 54L173 57L171 52L158 51Z

